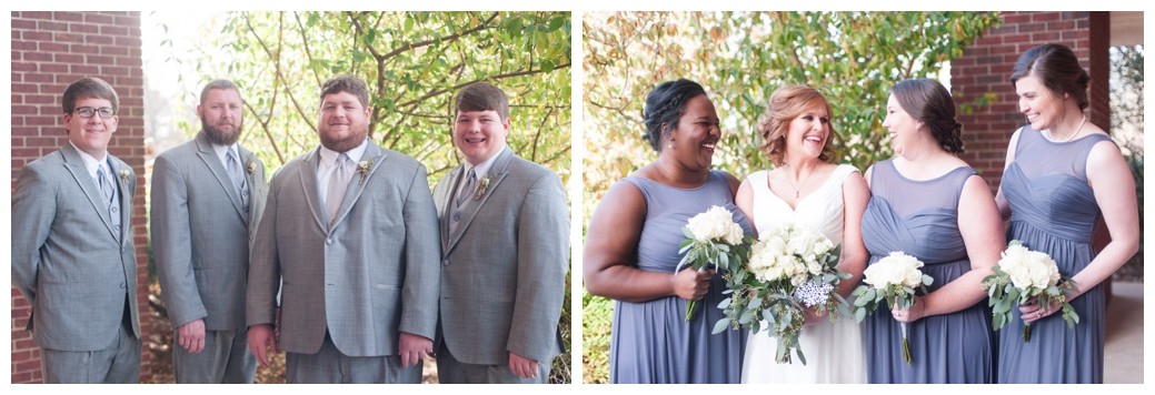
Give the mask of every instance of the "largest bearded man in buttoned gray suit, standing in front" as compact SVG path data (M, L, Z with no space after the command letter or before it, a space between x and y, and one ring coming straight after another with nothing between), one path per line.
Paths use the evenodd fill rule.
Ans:
M363 81L327 81L321 146L269 184L248 347L267 364L278 333L288 382L417 383L433 348L441 252L425 166L368 140L370 114Z

